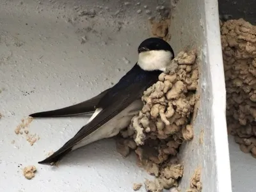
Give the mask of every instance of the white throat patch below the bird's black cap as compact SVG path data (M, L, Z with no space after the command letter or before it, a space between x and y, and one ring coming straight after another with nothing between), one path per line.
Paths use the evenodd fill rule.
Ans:
M159 50L140 52L138 65L143 70L164 71L165 68L170 64L172 57L173 55L170 51Z

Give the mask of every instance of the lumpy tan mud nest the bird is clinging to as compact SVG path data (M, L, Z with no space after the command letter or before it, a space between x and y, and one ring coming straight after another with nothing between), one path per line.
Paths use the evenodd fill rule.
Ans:
M159 81L144 92L143 108L117 140L122 156L134 150L138 165L156 176L153 181L146 180L147 191L177 187L182 177L183 166L177 153L184 141L193 139L192 116L199 78L196 61L195 50L180 52L160 74Z

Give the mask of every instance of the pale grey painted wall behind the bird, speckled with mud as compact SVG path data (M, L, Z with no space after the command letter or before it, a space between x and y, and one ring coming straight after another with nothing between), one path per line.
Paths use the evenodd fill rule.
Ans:
M150 178L134 156L123 159L116 152L113 140L72 152L58 168L37 164L89 117L33 120L29 131L40 140L32 147L14 132L30 113L89 99L132 68L138 45L148 37L143 7L154 13L157 2L129 2L0 2L0 191L132 191L134 182ZM97 16L79 17L79 4L94 8ZM21 168L30 164L38 173L26 180Z

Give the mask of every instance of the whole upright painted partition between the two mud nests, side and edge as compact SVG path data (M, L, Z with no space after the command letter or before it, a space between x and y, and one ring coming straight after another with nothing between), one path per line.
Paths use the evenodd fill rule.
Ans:
M200 108L194 125L194 138L182 146L180 157L184 175L180 187L185 191L196 168L202 168L204 192L230 192L230 162L225 117L225 80L221 54L218 1L180 0L175 6L171 43L175 52L196 48L200 56ZM216 83L217 82L217 83ZM204 143L199 143L204 131Z

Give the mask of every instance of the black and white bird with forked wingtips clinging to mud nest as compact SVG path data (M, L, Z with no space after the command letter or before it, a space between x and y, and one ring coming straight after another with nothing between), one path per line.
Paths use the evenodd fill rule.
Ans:
M73 106L33 113L33 118L92 114L86 125L59 150L39 164L54 165L77 148L116 136L131 124L143 107L143 92L157 82L158 76L174 58L170 44L157 37L143 40L138 47L138 61L115 85L99 95Z

